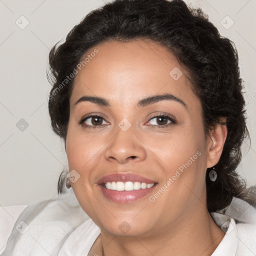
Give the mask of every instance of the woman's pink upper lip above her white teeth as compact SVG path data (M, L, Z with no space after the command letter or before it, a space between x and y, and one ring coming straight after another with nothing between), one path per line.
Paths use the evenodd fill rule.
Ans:
M101 177L98 181L97 184L103 184L106 182L112 182L112 181L122 181L122 182L126 182L126 181L138 181L138 182L145 182L147 184L152 184L152 183L156 183L156 181L153 181L151 179L145 178L143 176L140 176L138 174L135 173L112 173L109 175L105 175L103 177Z

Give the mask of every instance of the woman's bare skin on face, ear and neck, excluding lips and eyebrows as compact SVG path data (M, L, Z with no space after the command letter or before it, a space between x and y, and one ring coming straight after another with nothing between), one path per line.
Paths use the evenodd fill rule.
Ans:
M80 175L71 184L74 193L101 229L89 255L210 255L224 232L206 208L205 172L219 160L226 126L216 125L205 136L201 104L188 73L167 48L150 40L108 41L84 55L94 48L98 53L75 77L65 141L69 171ZM174 67L183 73L178 80L169 75ZM180 98L186 107L174 100L137 106L138 100L163 93ZM110 106L75 104L83 95L104 97ZM174 116L176 123L150 120L159 113ZM78 124L90 114L102 116L100 127ZM131 124L126 131L118 126L123 118ZM88 118L83 124L96 122ZM149 201L196 152L200 156ZM102 176L116 172L137 173L158 184L143 198L116 203L104 197L97 184ZM130 227L125 234L119 229L123 221Z

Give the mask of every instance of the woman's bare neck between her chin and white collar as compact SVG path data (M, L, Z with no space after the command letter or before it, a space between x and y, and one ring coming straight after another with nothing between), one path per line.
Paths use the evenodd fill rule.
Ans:
M153 236L115 236L101 230L88 255L99 256L208 256L224 236L209 212L186 215ZM102 249L103 248L103 249Z

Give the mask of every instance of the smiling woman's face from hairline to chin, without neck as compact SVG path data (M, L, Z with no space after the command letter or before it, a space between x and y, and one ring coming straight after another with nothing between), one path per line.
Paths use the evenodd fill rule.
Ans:
M149 235L206 210L212 141L176 57L149 40L104 42L87 55L75 77L66 137L83 210L114 235Z

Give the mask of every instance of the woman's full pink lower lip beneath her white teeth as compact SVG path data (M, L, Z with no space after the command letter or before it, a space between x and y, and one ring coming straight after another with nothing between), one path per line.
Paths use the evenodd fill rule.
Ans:
M108 199L118 203L128 203L144 197L154 189L155 185L156 184L149 188L131 191L116 191L104 188L102 185L99 186L105 197L107 197Z

